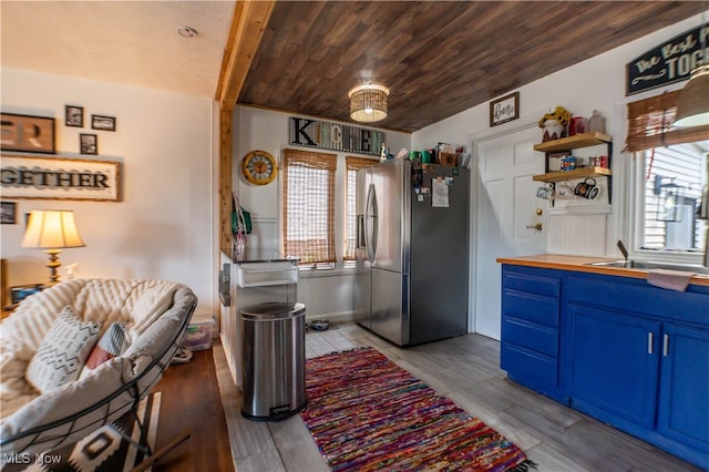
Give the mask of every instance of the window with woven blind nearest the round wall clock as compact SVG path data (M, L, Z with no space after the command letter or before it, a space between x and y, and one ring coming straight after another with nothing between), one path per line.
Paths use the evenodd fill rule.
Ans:
M300 265L333 264L337 155L284 150L284 254Z

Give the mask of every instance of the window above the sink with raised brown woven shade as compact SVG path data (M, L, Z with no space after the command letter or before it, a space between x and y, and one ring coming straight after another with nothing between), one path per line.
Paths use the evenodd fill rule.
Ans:
M697 252L706 222L697 218L706 185L709 126L674 126L679 91L628 104L624 151L637 152L636 214L640 249ZM674 193L674 195L672 195Z

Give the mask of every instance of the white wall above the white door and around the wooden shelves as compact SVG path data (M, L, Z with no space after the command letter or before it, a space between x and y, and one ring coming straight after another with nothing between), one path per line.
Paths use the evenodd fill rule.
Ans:
M660 42L698 27L700 22L701 16L696 16L516 89L520 92L521 117L518 120L490 127L489 103L483 103L413 133L412 147L424 148L438 142L465 144L471 147L475 140L536 123L544 113L552 111L556 105L564 106L574 115L580 116L590 116L593 110L599 110L606 117L606 132L614 140L613 214L607 222L606 240L592 253L619 256L615 242L618 238L627 239L629 217L627 188L630 178L628 172L630 155L620 152L627 130L626 104L665 91L665 89L655 89L625 96L626 64ZM685 83L669 85L666 90L677 90ZM540 130L540 142L542 142L542 130ZM472 161L471 167L474 167L475 156ZM588 211L588 208L583 209ZM604 214L600 208L599 212ZM551 218L549 230L554 237L547 240L547 252L568 253L578 249L573 244L569 245L577 233L578 217L577 214L562 214Z

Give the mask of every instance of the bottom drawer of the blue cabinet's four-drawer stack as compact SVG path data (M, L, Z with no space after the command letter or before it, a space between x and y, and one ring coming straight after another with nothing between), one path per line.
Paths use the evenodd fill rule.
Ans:
M500 350L500 366L516 382L543 390L556 388L557 361L555 358L503 342Z

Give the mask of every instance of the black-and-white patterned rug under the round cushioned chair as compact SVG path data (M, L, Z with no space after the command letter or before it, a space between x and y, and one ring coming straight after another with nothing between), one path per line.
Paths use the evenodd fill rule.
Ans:
M147 444L155 448L162 393L154 392L141 400L137 417L147 430ZM132 441L140 442L141 430L135 415L126 413L113 424L106 424L86 438L43 454L18 454L6 459L2 472L127 472L146 459ZM8 461L9 459L9 461Z

